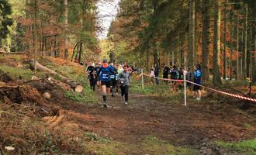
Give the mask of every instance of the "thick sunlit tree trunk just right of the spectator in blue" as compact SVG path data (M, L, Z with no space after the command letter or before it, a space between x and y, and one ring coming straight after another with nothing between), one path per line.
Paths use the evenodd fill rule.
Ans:
M214 12L213 84L220 85L220 1L215 2Z

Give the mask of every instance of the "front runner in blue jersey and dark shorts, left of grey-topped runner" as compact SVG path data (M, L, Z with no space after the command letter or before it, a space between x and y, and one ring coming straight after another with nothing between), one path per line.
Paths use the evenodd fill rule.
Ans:
M107 108L106 105L106 92L110 92L111 86L111 78L110 75L114 73L112 67L109 66L108 61L106 59L103 60L102 66L99 67L99 81L101 81L102 85L102 98L103 98L103 106Z

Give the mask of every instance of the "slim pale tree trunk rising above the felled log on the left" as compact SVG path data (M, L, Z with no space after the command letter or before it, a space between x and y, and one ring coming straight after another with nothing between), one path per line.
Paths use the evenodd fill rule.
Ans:
M64 28L65 28L65 45L64 45L64 58L67 59L68 57L68 36L67 36L67 26L68 26L68 6L67 0L64 0Z

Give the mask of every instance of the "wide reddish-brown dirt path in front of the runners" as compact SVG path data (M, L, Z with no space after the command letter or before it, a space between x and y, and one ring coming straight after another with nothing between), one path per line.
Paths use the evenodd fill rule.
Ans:
M97 95L102 101L100 95ZM164 98L130 95L128 106L120 96L108 96L110 108L100 105L68 105L72 120L81 129L109 136L124 143L140 143L145 136L155 136L175 146L199 148L202 140L238 141L254 138L256 122L235 105L189 103L177 105ZM247 128L244 124L250 124Z

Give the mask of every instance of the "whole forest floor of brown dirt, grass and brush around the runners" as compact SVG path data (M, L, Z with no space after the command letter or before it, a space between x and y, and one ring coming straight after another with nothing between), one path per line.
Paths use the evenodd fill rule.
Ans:
M0 69L22 84L33 74L46 75L29 71L21 60L0 57ZM2 101L0 154L256 154L256 109L242 110L242 100L204 91L201 102L188 93L185 107L182 91L150 80L142 91L140 77L133 75L129 105L108 95L109 108L103 108L81 66L52 58L41 63L80 81L85 92L57 89L47 100L29 91L22 104ZM243 83L229 85L233 91L227 91L247 92Z

